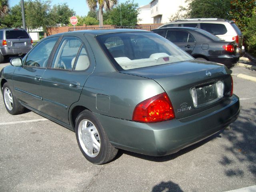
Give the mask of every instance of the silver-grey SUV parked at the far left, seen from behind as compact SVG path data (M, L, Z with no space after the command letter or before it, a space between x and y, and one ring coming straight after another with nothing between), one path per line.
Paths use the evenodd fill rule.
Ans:
M7 56L25 55L32 49L33 41L24 29L0 29L0 63Z

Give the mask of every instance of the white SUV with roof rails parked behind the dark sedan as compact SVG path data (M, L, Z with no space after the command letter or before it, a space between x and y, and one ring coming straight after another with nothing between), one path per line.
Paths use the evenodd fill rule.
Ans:
M165 27L195 27L206 30L225 41L236 41L237 52L244 55L244 36L234 21L219 18L180 19L160 26Z

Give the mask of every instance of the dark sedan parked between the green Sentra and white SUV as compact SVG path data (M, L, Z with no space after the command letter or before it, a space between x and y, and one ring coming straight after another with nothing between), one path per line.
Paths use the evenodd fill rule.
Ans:
M236 42L227 42L198 28L168 27L152 30L170 40L182 50L200 60L207 60L234 66L239 61Z

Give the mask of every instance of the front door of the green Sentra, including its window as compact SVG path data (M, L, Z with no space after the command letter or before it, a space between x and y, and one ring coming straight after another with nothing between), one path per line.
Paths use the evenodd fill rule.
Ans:
M43 108L41 81L48 58L58 37L40 42L23 61L23 66L15 69L13 75L15 95L20 102L41 110Z

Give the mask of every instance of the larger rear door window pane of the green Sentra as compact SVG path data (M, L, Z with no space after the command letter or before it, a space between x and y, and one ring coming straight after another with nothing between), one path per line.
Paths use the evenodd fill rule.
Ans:
M52 61L52 68L72 70L81 45L82 41L77 37L63 37Z

